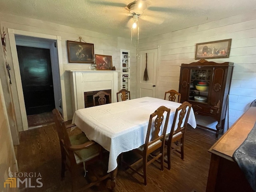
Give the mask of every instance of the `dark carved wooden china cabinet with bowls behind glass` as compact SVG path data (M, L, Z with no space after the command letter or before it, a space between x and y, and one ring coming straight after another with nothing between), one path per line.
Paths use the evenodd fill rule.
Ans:
M181 64L180 68L181 103L190 102L195 114L211 116L218 122L216 130L197 124L216 131L216 139L224 126L233 67L232 62L216 63L202 59Z

